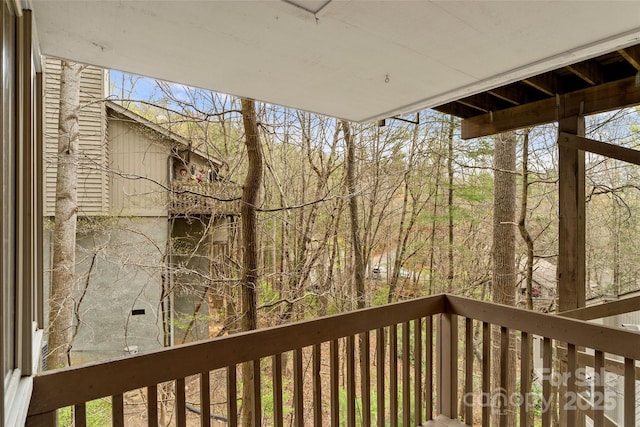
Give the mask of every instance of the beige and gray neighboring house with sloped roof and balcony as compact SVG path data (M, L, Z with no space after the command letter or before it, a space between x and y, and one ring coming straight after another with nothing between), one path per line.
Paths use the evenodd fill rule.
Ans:
M52 248L60 61L46 60L45 248ZM239 186L222 162L106 101L108 73L84 69L73 358L89 361L206 338L209 294L224 273ZM49 272L51 251L45 250ZM45 275L49 288L50 275ZM188 333L189 337L185 337Z

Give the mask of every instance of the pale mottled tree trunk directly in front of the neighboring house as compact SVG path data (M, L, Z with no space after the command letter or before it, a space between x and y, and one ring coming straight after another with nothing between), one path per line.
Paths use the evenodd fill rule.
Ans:
M78 215L78 148L80 143L80 75L82 66L62 61L58 170L56 181L53 271L49 298L50 369L69 366L73 323L76 220Z

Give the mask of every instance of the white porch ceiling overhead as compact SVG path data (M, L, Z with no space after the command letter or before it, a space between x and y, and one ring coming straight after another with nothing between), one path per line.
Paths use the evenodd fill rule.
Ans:
M640 43L637 0L27 2L45 55L357 122Z

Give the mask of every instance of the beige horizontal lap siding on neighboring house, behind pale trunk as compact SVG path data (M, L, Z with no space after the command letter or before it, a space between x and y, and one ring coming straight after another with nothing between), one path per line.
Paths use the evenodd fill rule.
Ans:
M58 153L58 109L60 100L59 59L46 58L44 86L45 215L55 210ZM80 164L78 170L78 215L109 212L109 145L106 135L105 92L107 74L87 66L80 82Z

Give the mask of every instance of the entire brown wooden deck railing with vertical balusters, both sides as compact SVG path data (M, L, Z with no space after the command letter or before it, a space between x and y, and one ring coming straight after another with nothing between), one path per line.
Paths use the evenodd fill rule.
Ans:
M437 413L486 426L493 400L487 397L498 390L490 387L492 329L499 331L496 350L502 360L513 357L508 351L513 340L520 359L517 390L497 397L532 395L527 367L536 336L543 342L543 367L549 373L539 397L551 402L554 378L566 379L559 401L567 409L565 425L579 425L584 414L595 426L608 420L603 402L594 402L594 393L590 398L581 394L580 378L570 375L578 372L588 352L593 353L596 372L608 369L605 352L623 361L612 374L624 378L623 425L635 425L640 334L449 295L46 372L34 380L29 425L54 425L55 411L69 406L74 407L75 425L87 425L87 402L105 397L111 400L114 426L156 426L159 418L167 417L176 426L209 426L212 415L239 425L238 367L248 362L255 373L253 425L409 426ZM554 350L554 341L566 348L567 362L561 368L553 363L553 353L561 353ZM505 389L507 365L499 368ZM476 376L480 381L474 382ZM595 393L606 398L603 379L596 376L595 382ZM571 407L578 400L580 412ZM519 425L531 425L528 403L519 402ZM551 410L537 417L537 424L551 425ZM506 425L506 415L500 420Z

